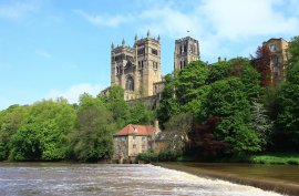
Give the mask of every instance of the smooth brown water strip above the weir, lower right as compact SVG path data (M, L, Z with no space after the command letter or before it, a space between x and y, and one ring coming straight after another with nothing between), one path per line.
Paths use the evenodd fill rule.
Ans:
M214 167L207 167L207 164L194 163L154 163L154 165L186 172L197 176L225 179L237 184L254 186L265 190L272 190L288 195L299 195L299 184L296 182L297 176L295 176L293 180L280 179L279 175L275 177L260 177L259 175L255 174L248 175L239 172L234 172L234 169L229 172L223 168L217 169L217 164L213 164ZM276 171L276 167L274 167L274 171Z

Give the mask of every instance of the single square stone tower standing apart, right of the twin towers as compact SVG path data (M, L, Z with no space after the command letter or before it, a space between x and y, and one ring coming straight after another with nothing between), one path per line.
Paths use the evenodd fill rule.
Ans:
M199 60L198 41L190 38L175 40L174 70L182 70L188 63Z

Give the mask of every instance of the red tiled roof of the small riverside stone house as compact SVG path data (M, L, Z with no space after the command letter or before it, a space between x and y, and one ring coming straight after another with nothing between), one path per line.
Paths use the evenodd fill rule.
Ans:
M154 134L154 126L152 125L134 125L128 124L118 132L114 134L117 135L153 135Z

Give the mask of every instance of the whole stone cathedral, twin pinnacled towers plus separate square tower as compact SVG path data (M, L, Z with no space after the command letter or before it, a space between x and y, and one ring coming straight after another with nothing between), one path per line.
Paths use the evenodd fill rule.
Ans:
M182 70L192 61L199 60L198 41L186 37L175 41L174 69ZM138 39L135 35L133 47L111 45L111 85L124 89L126 101L158 95L163 87L161 72L161 38Z

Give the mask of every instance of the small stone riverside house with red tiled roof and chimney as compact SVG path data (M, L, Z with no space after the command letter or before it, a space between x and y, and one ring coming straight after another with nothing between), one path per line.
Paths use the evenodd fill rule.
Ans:
M113 135L113 159L120 161L120 163L135 163L140 153L152 148L152 138L159 132L157 122L154 126L126 125Z

